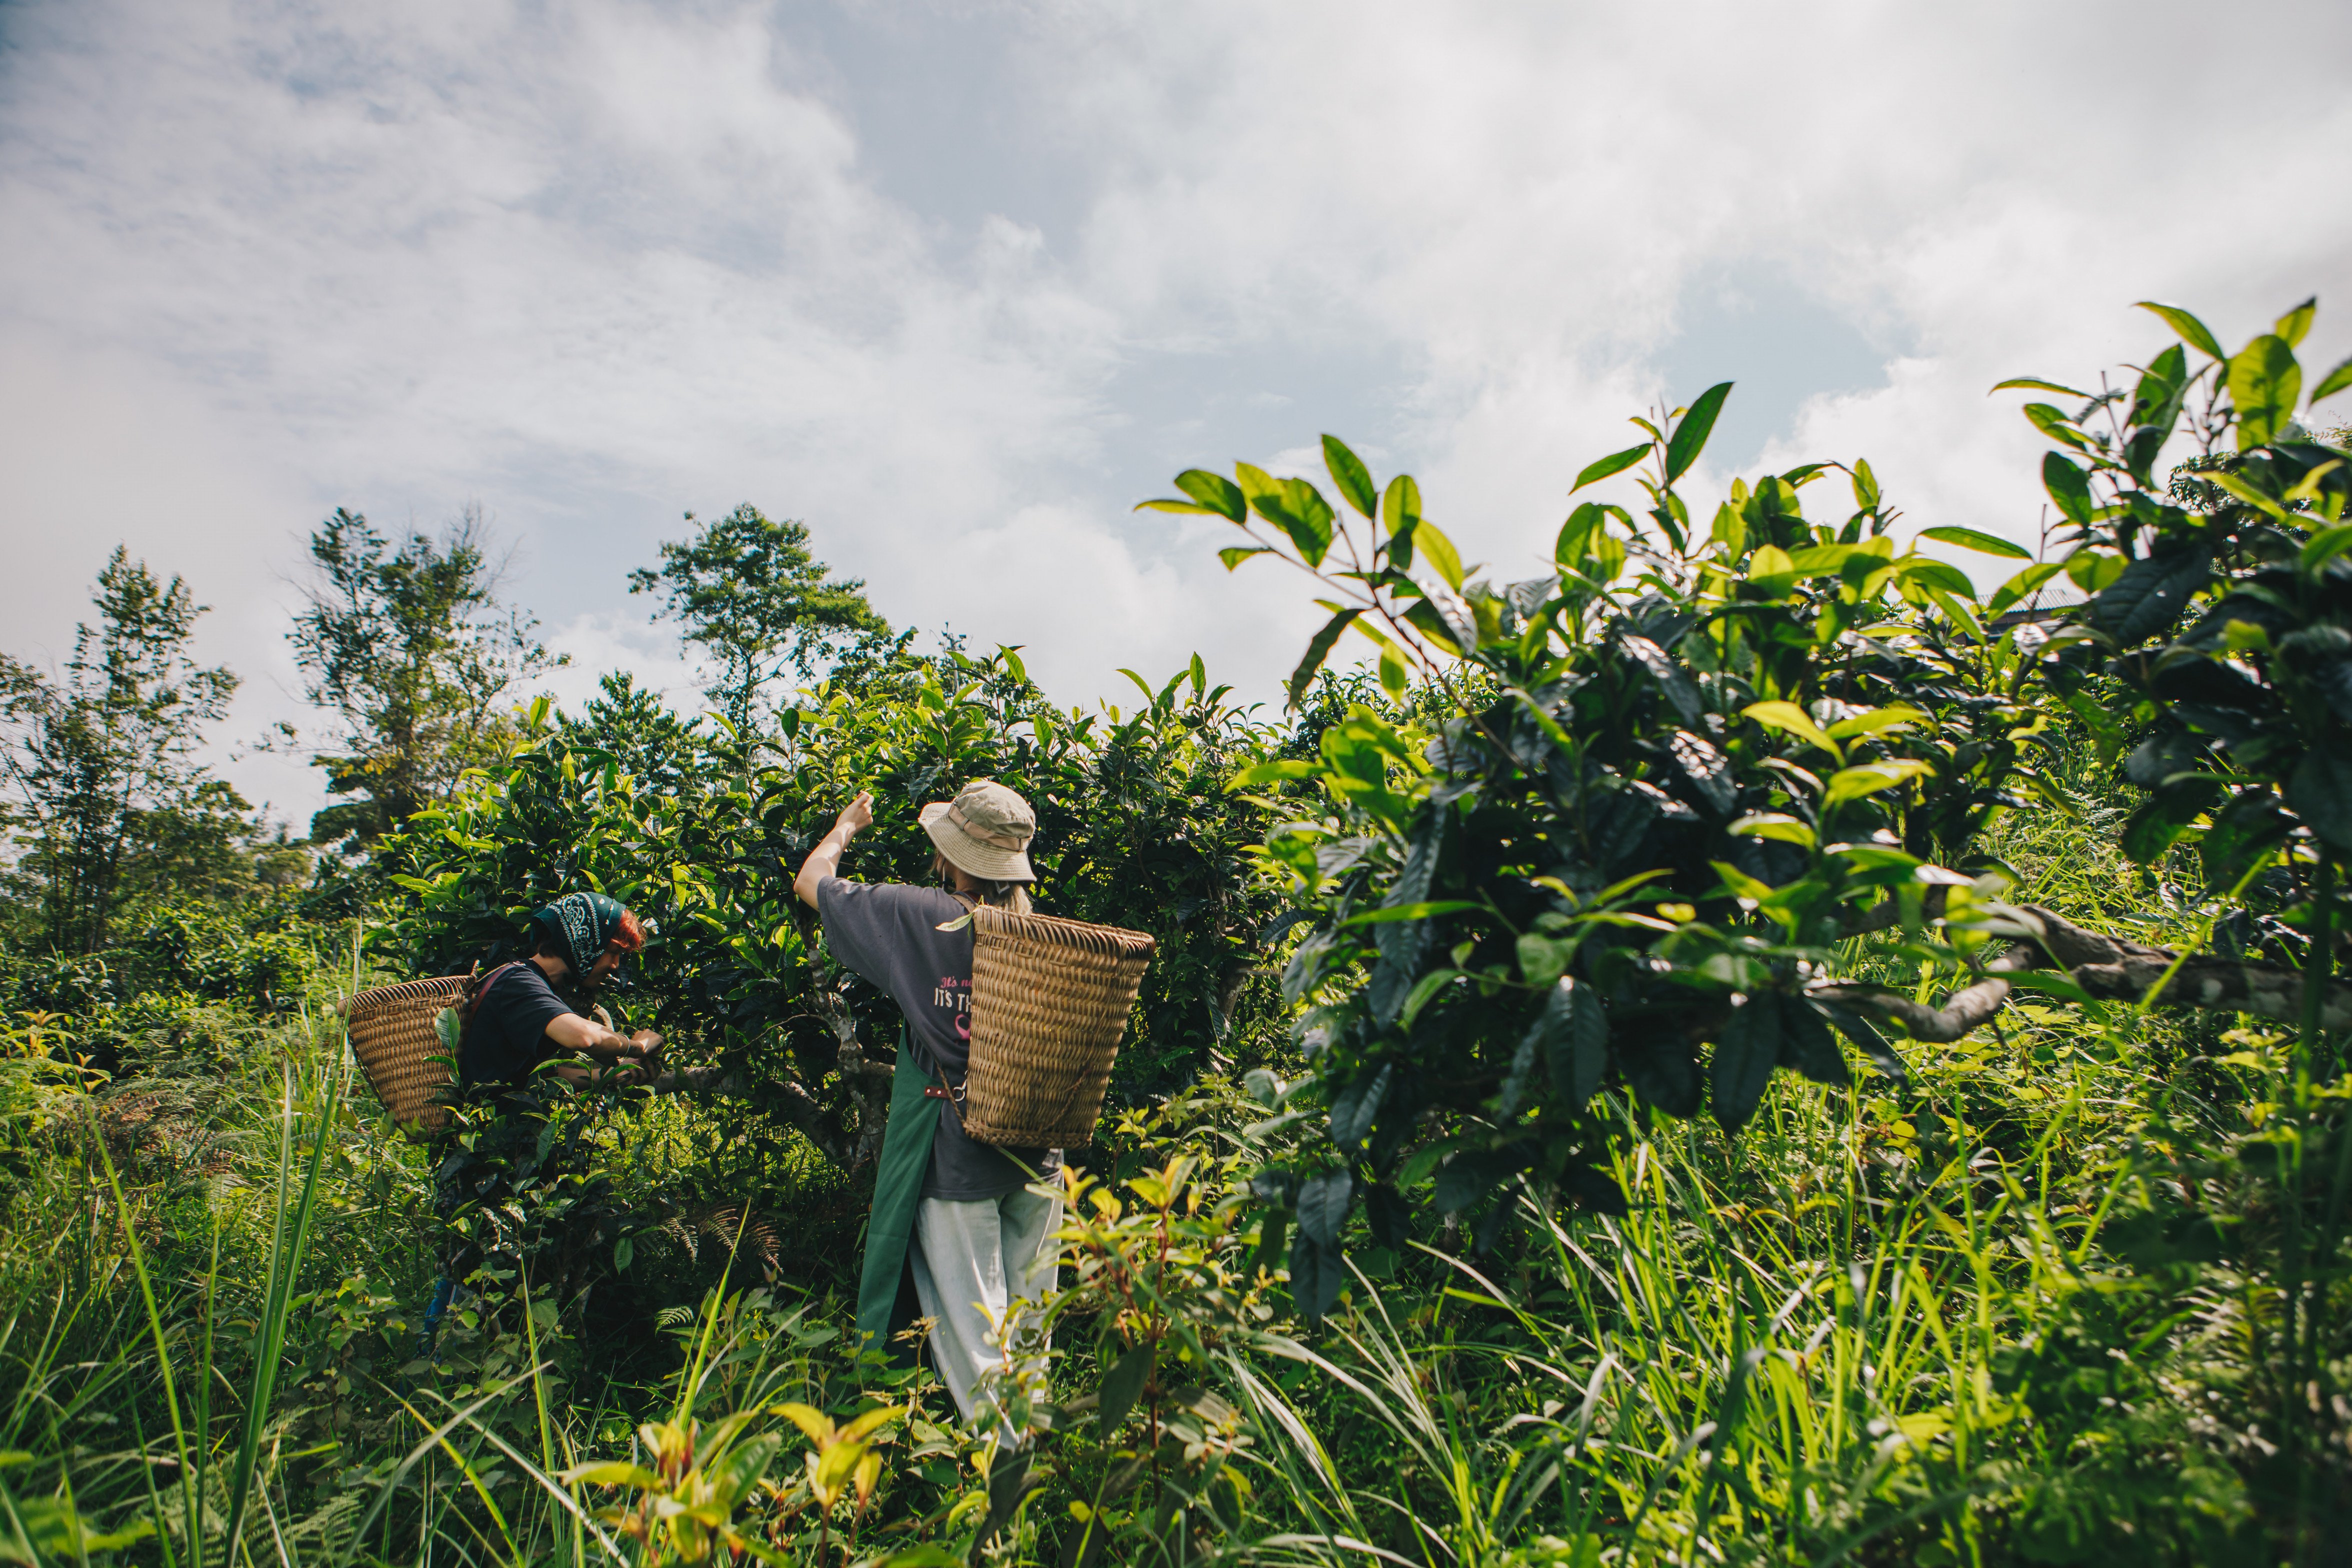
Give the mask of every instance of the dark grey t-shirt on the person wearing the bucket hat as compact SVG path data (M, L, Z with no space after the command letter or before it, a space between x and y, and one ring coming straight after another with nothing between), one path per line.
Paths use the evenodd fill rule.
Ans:
M971 1058L971 926L938 926L962 919L964 900L946 889L826 877L816 884L816 912L833 957L889 992L906 1013L915 1060L960 1084ZM1021 1166L1044 1175L1061 1166L1061 1150L974 1143L941 1100L922 1197L955 1204L1000 1199L1030 1182Z

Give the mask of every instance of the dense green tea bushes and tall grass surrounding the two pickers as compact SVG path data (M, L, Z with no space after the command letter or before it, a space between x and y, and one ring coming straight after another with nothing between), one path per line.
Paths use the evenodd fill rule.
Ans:
M2023 383L2074 400L2027 407L2051 559L1919 534L2018 559L1990 595L1860 461L1700 524L1729 388L1585 468L1649 503L1531 583L1336 440L1338 505L1185 473L1160 505L1327 597L1284 726L1200 661L1063 710L1016 651L821 618L783 691L797 595L856 585L736 512L779 545L706 602L741 722L614 677L332 889L12 938L0 1559L2331 1561L2352 529L2307 404L2352 367L2303 397L2310 308L2237 355L2159 315L2129 393ZM1037 802L1047 907L1162 943L988 1387L1018 1453L849 1354L896 1018L790 898L861 788L849 870L922 877L976 773ZM720 1086L581 1095L593 1159L494 1220L628 1222L501 1244L426 1349L440 1150L327 1009L586 886L654 926L623 1023Z

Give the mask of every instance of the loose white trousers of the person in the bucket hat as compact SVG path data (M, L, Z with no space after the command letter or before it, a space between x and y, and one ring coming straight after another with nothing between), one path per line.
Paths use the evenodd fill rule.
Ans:
M915 1300L931 1319L931 1361L967 1422L981 1371L1004 1361L1004 1309L1054 1288L1056 1229L1061 1199L1028 1190L974 1204L922 1199L915 1208Z

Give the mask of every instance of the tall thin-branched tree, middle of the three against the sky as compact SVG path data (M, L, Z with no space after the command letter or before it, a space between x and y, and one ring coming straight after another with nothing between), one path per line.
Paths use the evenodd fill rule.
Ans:
M539 621L499 602L475 508L440 538L409 531L397 548L336 508L310 536L310 604L289 639L303 696L339 722L310 762L329 795L353 797L310 818L310 837L365 846L494 759L513 736L501 698L567 661L536 639Z

